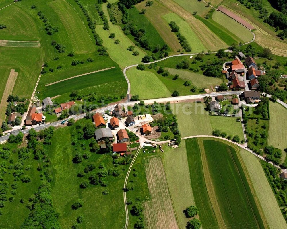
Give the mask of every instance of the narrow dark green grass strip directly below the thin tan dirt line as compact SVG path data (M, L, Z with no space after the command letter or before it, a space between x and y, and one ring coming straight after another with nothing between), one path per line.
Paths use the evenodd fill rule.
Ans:
M125 82L121 70L119 68L112 68L106 71L91 73L44 87L43 98L63 95L65 93L71 93L73 90L81 90L104 84L117 85L118 82L121 81ZM95 90L94 93L98 95L103 93L103 91ZM106 93L113 94L114 92L107 91Z

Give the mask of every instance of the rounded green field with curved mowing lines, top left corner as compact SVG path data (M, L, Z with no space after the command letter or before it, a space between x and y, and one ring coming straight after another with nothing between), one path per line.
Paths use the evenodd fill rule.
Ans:
M39 38L35 22L28 13L17 6L17 3L1 10L0 21L6 26L1 29L0 39L38 40Z

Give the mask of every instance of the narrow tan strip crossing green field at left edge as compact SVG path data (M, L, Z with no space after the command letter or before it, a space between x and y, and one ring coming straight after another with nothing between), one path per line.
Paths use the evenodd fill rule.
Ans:
M5 90L3 92L1 102L0 102L0 123L1 124L2 124L3 118L5 116L6 105L7 105L6 100L7 100L8 96L10 94L12 94L13 87L14 87L15 81L17 79L17 76L18 76L18 72L15 72L15 69L11 69L10 75L9 75L8 80L7 80L6 87L5 87Z

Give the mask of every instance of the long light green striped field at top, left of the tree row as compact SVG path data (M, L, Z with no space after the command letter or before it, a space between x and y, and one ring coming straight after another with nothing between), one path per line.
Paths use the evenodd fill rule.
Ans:
M65 1L55 0L49 3L60 17L76 53L93 52L96 50L82 19Z

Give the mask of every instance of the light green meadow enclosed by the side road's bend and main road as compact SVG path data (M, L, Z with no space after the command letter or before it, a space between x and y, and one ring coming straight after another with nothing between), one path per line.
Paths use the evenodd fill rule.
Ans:
M131 83L131 94L139 95L140 99L170 97L172 94L155 73L150 71L130 68L127 70L127 77Z

